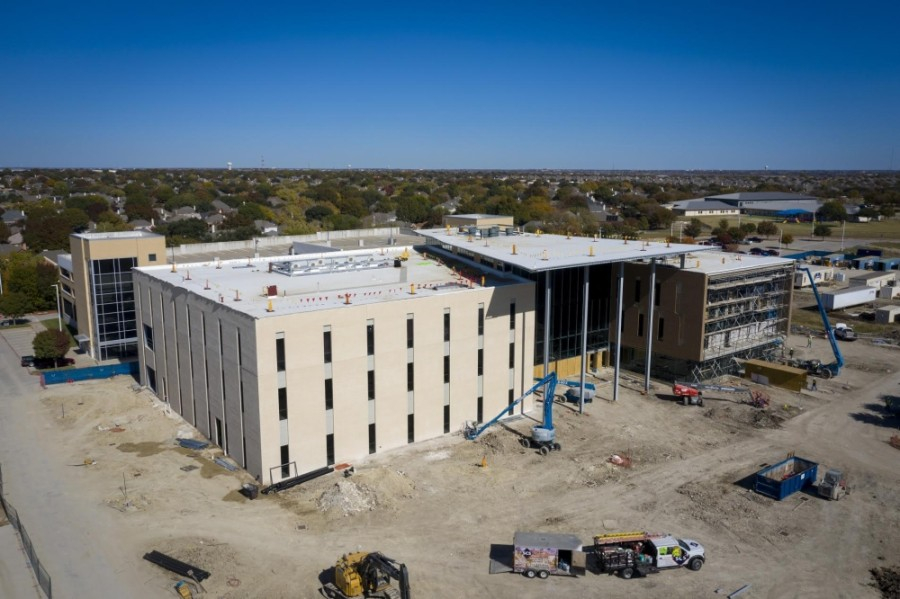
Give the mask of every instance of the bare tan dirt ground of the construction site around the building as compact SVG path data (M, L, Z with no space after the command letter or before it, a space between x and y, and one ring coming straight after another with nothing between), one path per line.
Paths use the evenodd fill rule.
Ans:
M827 361L824 340L809 350L805 337L789 342ZM154 549L208 570L204 596L223 599L318 597L334 561L363 549L406 563L417 599L716 597L745 584L743 597L875 598L870 570L900 566L900 451L888 444L898 422L879 400L900 395L900 352L842 348L849 367L839 378L819 380L816 392L766 389L767 410L724 393L685 407L661 383L643 395L627 373L613 403L608 371L584 415L555 406L561 452L542 457L518 443L536 412L474 442L457 434L386 452L350 477L255 501L238 492L250 476L216 464L217 450L177 446L192 428L130 379L51 387L34 417L71 466L64 483L84 498L96 542L128 556L145 581L123 596L176 596L177 578L140 559ZM778 502L748 489L748 476L788 452L819 462L820 477L842 469L849 496ZM610 463L614 454L631 467ZM585 544L609 531L670 532L698 540L708 560L699 572L630 581L490 575L491 544L511 543L517 530Z

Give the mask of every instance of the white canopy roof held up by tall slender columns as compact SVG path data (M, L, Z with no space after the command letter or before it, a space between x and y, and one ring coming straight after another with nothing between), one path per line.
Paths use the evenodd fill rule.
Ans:
M444 246L471 252L483 259L505 262L531 272L631 262L664 256L707 252L713 247L667 244L660 241L595 239L565 235L522 233L497 237L471 237L455 228L418 231L420 235ZM515 246L515 253L513 253ZM593 255L592 255L593 254Z

